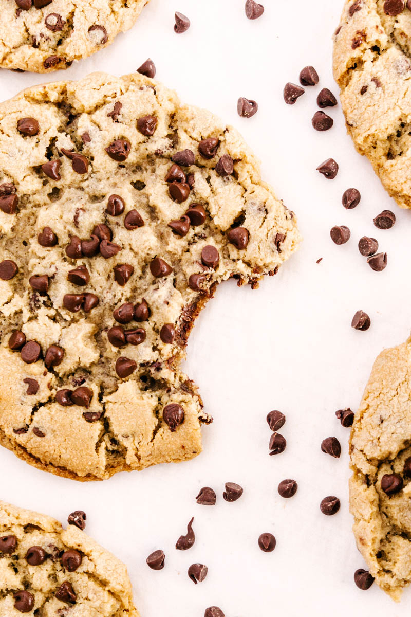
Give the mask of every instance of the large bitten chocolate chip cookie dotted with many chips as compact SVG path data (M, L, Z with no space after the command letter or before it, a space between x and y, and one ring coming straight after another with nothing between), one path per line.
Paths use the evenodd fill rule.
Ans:
M76 479L201 450L181 373L221 281L299 242L237 131L138 73L0 105L0 442Z

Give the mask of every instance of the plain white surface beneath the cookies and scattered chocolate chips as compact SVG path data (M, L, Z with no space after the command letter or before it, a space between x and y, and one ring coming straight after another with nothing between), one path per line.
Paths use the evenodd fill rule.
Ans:
M244 0L151 0L131 31L65 72L0 72L0 96L7 99L44 80L77 79L94 70L134 72L151 57L158 80L183 101L212 110L243 133L262 160L265 179L295 210L304 236L275 278L257 291L223 284L198 318L185 371L199 384L214 424L203 431L197 459L81 484L37 471L2 449L0 497L63 522L72 510L85 510L87 532L128 565L142 617L203 617L210 605L226 617L322 611L401 617L409 615L411 591L395 605L376 585L367 592L354 585L354 571L364 562L348 511L349 430L335 410L356 410L375 356L409 334L411 213L397 208L354 151L340 105L328 112L332 130L317 133L311 126L320 88L338 93L332 33L342 0L265 4L261 19L251 22ZM191 20L182 35L173 31L174 10ZM307 64L317 68L320 85L306 88L295 106L285 105L283 85L298 83ZM239 96L256 99L258 114L238 117ZM340 164L333 181L315 171L328 157ZM341 205L349 187L362 194L354 210ZM397 223L380 231L372 219L386 208ZM344 246L331 241L333 225L351 228ZM388 253L385 271L373 272L360 256L363 235L377 238ZM350 327L357 309L372 319L365 333ZM288 445L269 457L266 414L275 408L287 415L281 432ZM322 439L332 435L343 447L340 460L320 451ZM299 485L289 500L277 493L284 478ZM244 487L238 502L222 499L226 481ZM201 486L214 487L216 507L195 503ZM336 516L320 513L326 495L341 499ZM189 552L176 551L191 516L196 543ZM277 538L273 553L258 548L263 531ZM145 558L158 548L165 550L166 566L155 572ZM209 573L194 586L187 568L197 561Z

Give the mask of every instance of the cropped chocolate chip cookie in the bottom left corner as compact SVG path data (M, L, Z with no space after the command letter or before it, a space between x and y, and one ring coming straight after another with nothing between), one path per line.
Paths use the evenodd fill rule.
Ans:
M0 501L0 615L139 617L127 568L77 527Z

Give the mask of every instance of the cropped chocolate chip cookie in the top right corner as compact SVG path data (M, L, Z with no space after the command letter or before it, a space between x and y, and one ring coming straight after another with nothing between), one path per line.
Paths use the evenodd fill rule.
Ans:
M411 208L411 10L404 0L348 0L333 70L348 133L388 193Z

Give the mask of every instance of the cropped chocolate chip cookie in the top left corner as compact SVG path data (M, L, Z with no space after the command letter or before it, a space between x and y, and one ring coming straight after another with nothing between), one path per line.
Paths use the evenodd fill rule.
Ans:
M0 0L0 67L47 73L110 45L149 0Z

